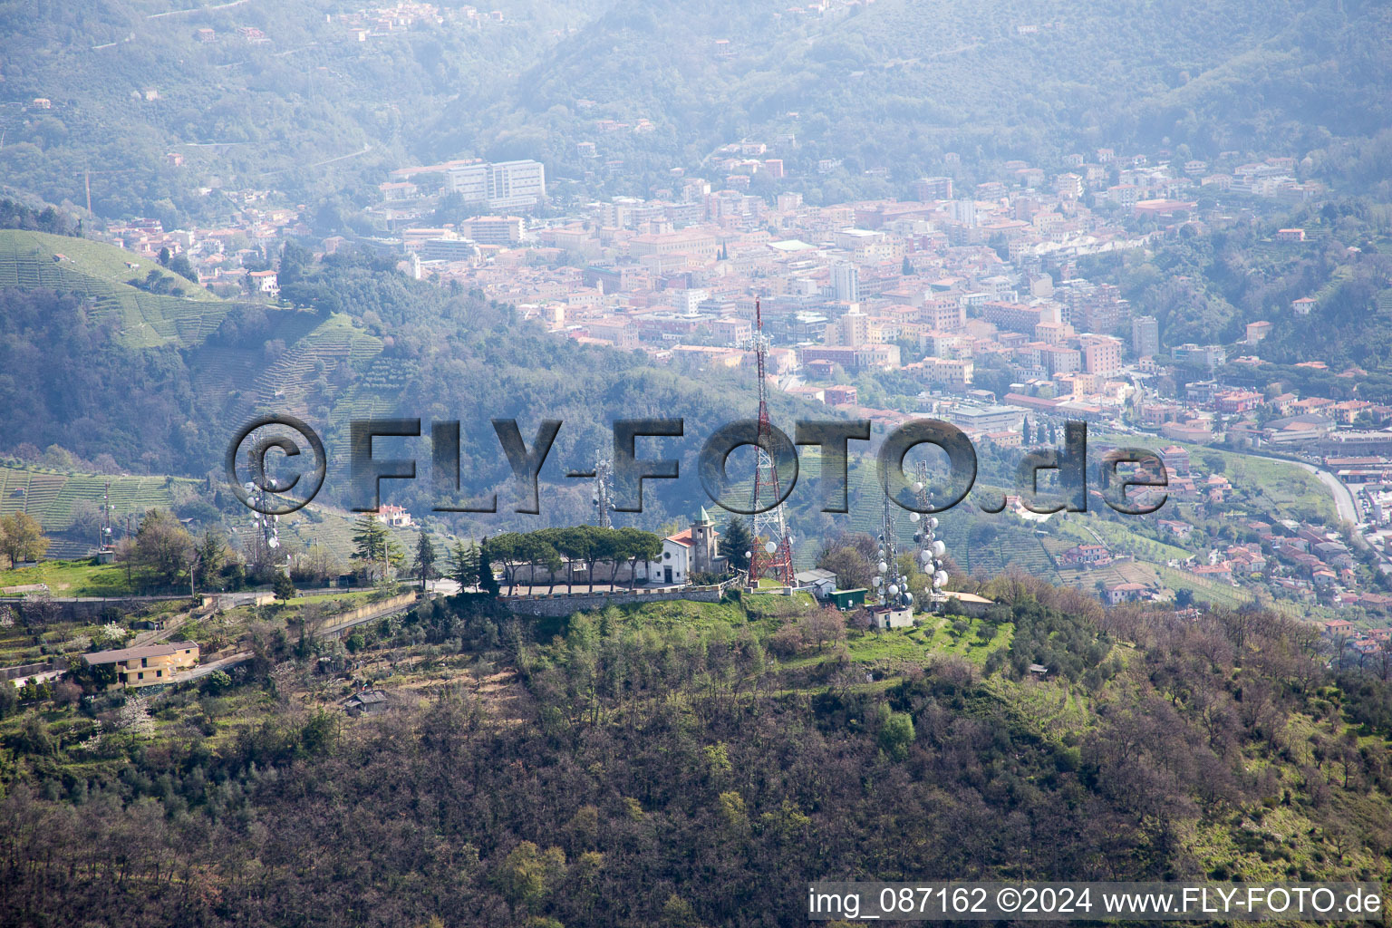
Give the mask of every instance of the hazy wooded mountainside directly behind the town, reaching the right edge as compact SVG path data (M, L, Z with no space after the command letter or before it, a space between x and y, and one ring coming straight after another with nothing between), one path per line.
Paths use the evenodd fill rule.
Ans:
M823 202L902 195L945 173L945 152L967 175L983 160L1054 163L1112 145L1303 157L1386 124L1389 32L1374 3L1161 13L1141 1L880 0L821 15L721 3L693 18L675 3L619 1L483 113L452 106L436 152L482 132L500 157L541 150L571 177L619 159L629 184L657 184L748 139L773 145L799 175L792 185ZM603 131L606 118L651 128ZM600 161L578 157L578 139ZM818 175L821 159L844 168Z

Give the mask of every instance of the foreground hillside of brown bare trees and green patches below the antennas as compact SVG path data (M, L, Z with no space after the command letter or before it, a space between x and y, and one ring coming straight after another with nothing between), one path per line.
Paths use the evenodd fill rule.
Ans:
M809 878L1385 872L1385 683L1329 673L1310 626L986 591L888 633L771 595L539 626L437 601L347 643L284 633L324 601L200 619L258 659L100 728L0 722L0 911L793 925ZM386 715L341 715L361 683Z

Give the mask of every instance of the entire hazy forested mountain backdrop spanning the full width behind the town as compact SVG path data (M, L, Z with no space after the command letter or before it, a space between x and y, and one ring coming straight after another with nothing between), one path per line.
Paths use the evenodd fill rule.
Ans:
M0 4L0 168L49 202L84 206L89 185L99 216L166 228L235 211L221 189L277 188L330 234L390 168L468 156L646 192L749 138L837 202L902 195L945 152L970 171L1111 145L1267 150L1375 182L1392 146L1392 26L1373 1L440 8L440 25L359 42L345 17L361 7L335 0ZM844 167L820 175L820 159Z

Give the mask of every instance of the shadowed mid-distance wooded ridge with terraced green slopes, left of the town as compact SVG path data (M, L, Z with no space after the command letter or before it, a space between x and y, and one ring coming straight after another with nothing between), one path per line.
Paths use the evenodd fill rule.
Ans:
M15 275L0 280L0 424L7 451L31 447L24 459L58 445L88 462L106 455L113 469L220 484L234 431L253 415L288 412L329 448L320 501L345 506L352 420L458 419L462 491L500 493L507 520L511 470L489 419L515 416L530 435L540 419L555 417L565 427L544 473L544 518L569 523L590 518L589 487L564 473L611 447L612 420L675 413L689 435L683 479L650 487L643 523L656 527L690 518L703 501L700 442L729 410L753 410L748 377L696 380L631 352L580 346L509 307L409 280L365 255L283 262L283 294L298 305L287 307L150 298L103 277L118 249L38 232L0 241L21 256ZM64 260L53 262L54 252ZM789 419L800 408L786 398L775 406ZM418 459L425 476L423 444ZM425 479L387 488L418 512L440 502Z

